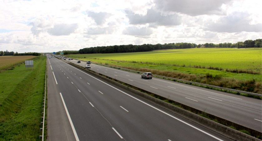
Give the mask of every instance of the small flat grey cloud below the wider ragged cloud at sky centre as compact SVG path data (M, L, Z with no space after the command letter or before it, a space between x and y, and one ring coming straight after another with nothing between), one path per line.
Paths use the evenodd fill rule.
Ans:
M125 35L137 35L137 36L149 36L153 33L152 29L147 27L137 28L135 26L131 26L126 28L123 31Z

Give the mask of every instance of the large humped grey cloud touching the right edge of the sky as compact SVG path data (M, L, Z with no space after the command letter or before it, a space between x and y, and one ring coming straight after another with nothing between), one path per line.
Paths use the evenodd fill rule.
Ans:
M233 12L228 16L221 17L216 22L206 23L205 30L215 32L262 32L262 24L249 24L252 19L246 12Z

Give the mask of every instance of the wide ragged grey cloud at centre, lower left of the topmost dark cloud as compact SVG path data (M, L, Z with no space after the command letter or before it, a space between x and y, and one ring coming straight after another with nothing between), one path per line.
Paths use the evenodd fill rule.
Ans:
M125 12L130 24L133 25L149 23L154 26L176 26L181 24L181 17L177 14L163 16L160 12L156 12L153 9L149 9L145 16L134 14L128 10Z

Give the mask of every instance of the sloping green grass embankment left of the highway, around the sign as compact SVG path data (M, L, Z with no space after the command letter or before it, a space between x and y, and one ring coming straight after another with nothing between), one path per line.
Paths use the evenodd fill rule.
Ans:
M0 140L39 140L46 57L10 57L17 62L0 57L0 63L9 66L0 73ZM25 68L29 59L34 60L33 70Z

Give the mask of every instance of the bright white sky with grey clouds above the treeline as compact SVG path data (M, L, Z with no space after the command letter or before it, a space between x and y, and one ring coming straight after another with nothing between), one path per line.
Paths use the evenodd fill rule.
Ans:
M261 0L0 0L0 51L256 40L261 6Z

